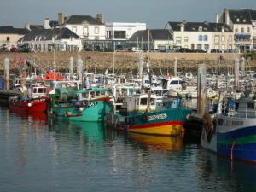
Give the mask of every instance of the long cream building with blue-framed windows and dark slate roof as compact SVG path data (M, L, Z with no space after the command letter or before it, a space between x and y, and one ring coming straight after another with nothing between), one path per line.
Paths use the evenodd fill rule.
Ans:
M233 32L224 23L211 22L168 22L165 29L173 38L173 47L194 50L211 49L227 51L232 49Z

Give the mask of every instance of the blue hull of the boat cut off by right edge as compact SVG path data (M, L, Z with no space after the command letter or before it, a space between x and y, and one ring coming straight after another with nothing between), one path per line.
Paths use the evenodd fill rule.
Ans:
M256 164L256 119L220 115L211 141L208 142L206 138L207 131L204 129L201 137L202 147L228 157L230 160Z

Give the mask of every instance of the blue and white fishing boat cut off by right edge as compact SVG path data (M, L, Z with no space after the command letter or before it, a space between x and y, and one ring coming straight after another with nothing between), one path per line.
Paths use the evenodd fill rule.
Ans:
M201 134L201 146L230 160L256 163L256 100L243 97L239 105L223 96L218 103L215 126L208 124Z

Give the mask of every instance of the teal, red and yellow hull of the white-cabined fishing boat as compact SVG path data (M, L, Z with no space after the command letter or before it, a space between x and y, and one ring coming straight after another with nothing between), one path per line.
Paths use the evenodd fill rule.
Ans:
M172 108L126 117L110 114L107 117L107 125L134 133L177 136L183 134L183 125L189 118L190 112L189 109L185 108Z

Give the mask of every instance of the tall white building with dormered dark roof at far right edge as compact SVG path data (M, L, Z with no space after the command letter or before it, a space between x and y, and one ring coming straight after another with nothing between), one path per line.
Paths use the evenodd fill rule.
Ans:
M234 47L240 52L247 52L256 49L256 10L224 9L223 13L216 20L224 23L234 33Z

